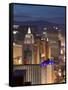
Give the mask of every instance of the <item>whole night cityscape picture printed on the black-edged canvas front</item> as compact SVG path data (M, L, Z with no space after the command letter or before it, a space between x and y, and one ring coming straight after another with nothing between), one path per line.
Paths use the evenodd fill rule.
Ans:
M13 4L13 85L66 82L66 7Z

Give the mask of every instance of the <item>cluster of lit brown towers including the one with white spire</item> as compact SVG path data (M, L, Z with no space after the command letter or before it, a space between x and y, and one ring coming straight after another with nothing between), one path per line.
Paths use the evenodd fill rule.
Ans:
M23 52L23 64L40 64L42 60L47 60L50 58L50 46L48 38L42 37L40 39L34 39L33 34L31 33L30 27L24 38L24 47Z

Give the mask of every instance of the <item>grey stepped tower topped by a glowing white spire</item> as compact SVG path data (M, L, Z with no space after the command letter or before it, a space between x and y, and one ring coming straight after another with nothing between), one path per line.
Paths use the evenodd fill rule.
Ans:
M24 64L33 64L34 63L34 36L31 33L30 27L28 28L28 32L24 38Z

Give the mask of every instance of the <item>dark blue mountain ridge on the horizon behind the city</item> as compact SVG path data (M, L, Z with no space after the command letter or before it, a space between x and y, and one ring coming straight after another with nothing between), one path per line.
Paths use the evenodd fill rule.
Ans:
M56 23L45 21L45 20L26 21L26 22L14 21L14 24L21 25L21 26L37 26L37 27L40 27L40 28L56 26L59 29L65 30L65 25L64 24L56 24Z

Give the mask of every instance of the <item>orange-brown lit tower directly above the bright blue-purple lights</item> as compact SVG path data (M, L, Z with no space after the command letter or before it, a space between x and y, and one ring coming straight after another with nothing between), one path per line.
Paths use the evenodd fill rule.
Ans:
M47 37L47 32L43 32L43 36L41 38L41 57L44 60L47 60L51 56L49 39Z

